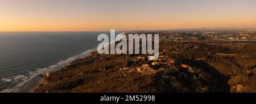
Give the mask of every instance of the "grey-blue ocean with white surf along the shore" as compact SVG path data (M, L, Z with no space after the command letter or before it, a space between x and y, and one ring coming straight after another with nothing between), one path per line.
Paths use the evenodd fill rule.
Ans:
M19 92L39 74L61 69L97 49L109 32L0 32L0 92Z

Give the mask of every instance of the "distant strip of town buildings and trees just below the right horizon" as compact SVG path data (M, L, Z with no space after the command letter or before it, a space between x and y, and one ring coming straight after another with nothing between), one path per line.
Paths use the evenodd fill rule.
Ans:
M145 34L147 32L143 32ZM195 41L195 40L255 40L256 31L206 31L206 32L179 32L179 31L163 31L159 32L160 40L168 41ZM148 34L148 33L147 33ZM151 33L154 34L154 33Z

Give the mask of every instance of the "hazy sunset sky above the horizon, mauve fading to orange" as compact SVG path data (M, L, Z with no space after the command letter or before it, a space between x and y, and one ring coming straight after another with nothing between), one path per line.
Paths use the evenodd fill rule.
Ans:
M256 27L255 0L0 0L0 31Z

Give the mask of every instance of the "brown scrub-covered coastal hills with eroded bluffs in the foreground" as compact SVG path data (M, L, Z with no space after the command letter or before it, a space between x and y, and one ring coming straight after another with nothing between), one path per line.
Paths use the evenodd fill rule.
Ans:
M160 38L161 39L161 38ZM147 55L98 55L47 73L35 92L256 92L254 41L159 43Z

